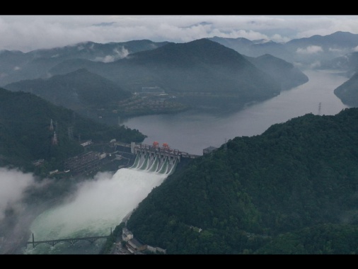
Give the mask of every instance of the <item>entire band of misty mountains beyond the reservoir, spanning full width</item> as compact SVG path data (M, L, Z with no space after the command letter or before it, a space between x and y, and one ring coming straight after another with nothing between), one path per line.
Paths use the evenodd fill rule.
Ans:
M100 105L108 105L103 99L107 93L114 102L129 98L129 92L141 93L142 88L154 87L173 97L167 100L174 106L176 103L182 107L231 111L306 83L308 77L301 71L306 68L338 69L352 76L358 67L357 52L354 52L357 47L358 35L336 32L286 43L214 37L187 43L82 42L27 53L4 50L0 52L0 86L12 91L32 91L54 103L82 111L85 107L99 109ZM76 84L66 76L57 76L71 76L79 69L96 75L96 83L95 76L88 81L105 94L89 87L86 96L84 86L88 83L84 76L83 83L77 80ZM48 91L47 87L52 90ZM114 93L114 88L118 93ZM81 91L82 96L76 96L76 91ZM113 107L119 113L121 109Z

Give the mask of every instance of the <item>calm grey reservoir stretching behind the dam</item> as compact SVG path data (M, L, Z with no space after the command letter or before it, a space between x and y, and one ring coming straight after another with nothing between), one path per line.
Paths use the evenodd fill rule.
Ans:
M279 96L230 114L193 113L147 115L125 120L122 124L138 129L154 141L168 143L172 149L202 155L206 147L220 147L227 139L260 135L275 123L286 122L306 113L335 115L347 108L333 93L347 77L333 71L305 71L306 84L282 91Z

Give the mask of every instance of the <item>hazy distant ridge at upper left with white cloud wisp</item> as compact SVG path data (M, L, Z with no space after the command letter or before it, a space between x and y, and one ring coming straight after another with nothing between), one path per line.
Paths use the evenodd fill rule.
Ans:
M151 40L132 40L128 42L81 42L53 49L33 50L31 52L0 52L0 86L24 79L47 77L47 71L56 64L69 59L87 59L92 62L113 62L129 53L154 50L168 42Z

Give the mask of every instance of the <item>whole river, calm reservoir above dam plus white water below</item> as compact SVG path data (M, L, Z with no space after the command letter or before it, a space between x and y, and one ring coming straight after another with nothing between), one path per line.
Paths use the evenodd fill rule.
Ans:
M309 78L306 84L236 113L214 115L187 110L175 115L132 118L122 124L147 135L144 144L166 142L172 149L202 155L206 147L219 147L227 139L238 136L260 135L275 123L306 113L335 115L347 108L333 93L347 77L333 71L305 71L305 74ZM108 235L111 228L120 224L125 215L165 179L166 175L129 168L114 174L99 173L94 181L84 182L64 205L40 214L30 230L35 241ZM73 246L40 244L35 248L29 244L23 253L93 254L100 251L104 241L93 244L81 241Z

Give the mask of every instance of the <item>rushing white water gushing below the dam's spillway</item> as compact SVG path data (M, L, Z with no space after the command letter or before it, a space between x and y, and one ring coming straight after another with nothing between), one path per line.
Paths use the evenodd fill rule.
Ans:
M85 181L67 203L40 214L30 227L35 241L106 236L122 222L168 175L121 168L115 174L98 173L93 181ZM28 241L32 241L32 236ZM26 254L98 253L105 239L90 244L78 241L50 246L28 244Z

